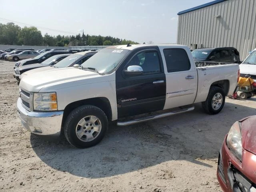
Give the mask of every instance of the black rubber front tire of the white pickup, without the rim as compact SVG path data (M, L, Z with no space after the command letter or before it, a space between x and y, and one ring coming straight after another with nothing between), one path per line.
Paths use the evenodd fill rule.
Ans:
M78 122L86 116L95 116L101 123L101 130L97 133L98 136L96 136L92 141L82 141L76 135ZM77 148L87 148L98 144L104 138L107 130L108 118L106 114L100 108L92 105L83 105L74 109L70 112L64 124L64 135L66 139L72 146ZM87 138L87 136L85 137Z

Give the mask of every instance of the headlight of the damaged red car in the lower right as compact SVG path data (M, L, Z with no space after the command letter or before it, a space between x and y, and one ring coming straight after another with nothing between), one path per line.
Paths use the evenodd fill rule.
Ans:
M230 128L226 142L230 151L242 162L242 136L238 121Z

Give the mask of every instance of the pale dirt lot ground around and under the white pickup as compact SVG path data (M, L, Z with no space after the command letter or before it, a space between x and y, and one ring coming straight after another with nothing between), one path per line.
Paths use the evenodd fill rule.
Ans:
M27 132L16 114L14 62L0 61L0 191L212 192L218 151L230 126L254 115L256 98L226 99L210 116L193 112L128 127L76 149Z

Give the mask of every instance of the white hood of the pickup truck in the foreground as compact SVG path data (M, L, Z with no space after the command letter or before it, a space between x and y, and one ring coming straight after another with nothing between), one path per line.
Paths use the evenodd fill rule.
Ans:
M46 86L54 86L56 84L64 83L69 83L70 86L70 82L93 77L101 77L101 75L73 67L55 68L53 70L36 72L24 76L20 81L20 87L30 92L39 92Z

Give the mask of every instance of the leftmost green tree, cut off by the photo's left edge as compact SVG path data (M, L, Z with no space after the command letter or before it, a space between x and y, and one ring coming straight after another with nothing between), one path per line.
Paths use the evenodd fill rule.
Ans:
M0 44L16 45L18 44L18 34L20 27L14 23L0 23Z

